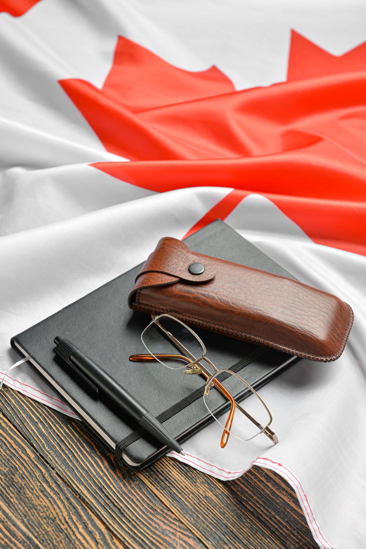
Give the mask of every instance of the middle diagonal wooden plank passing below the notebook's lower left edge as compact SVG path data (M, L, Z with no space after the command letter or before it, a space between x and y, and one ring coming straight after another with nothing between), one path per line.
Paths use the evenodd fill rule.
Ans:
M114 456L99 449L81 422L9 388L0 402L9 422L128 548L203 549L134 472L116 468Z

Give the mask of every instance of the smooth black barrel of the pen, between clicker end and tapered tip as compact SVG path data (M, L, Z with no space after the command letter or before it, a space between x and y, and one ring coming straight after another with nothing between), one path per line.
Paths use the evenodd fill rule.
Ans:
M114 402L117 406L131 416L136 422L140 422L142 416L145 416L147 410L140 402L136 401L134 397L125 390L122 385L116 382L107 372L101 369L87 355L84 355L79 349L74 351L70 360L77 368L87 376L96 386L98 386L102 393L104 393L108 399Z

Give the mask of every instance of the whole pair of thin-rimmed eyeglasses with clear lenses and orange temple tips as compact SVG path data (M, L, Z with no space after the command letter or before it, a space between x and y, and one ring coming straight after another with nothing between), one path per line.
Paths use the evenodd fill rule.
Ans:
M193 330L171 315L153 317L141 335L149 354L131 355L131 361L158 361L170 369L185 368L183 373L201 374L206 379L204 404L224 429L221 448L231 435L251 440L264 433L277 444L270 429L271 412L256 391L237 373L218 369L206 356L206 348ZM178 354L177 354L178 351ZM245 398L245 409L239 404Z

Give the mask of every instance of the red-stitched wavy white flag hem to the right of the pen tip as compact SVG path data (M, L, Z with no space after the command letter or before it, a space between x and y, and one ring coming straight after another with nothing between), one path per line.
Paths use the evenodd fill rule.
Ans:
M185 457L182 457L182 456L179 456L179 457L178 457L178 454L176 454L175 452L169 452L167 455L168 455L168 456L171 456L171 457L175 457L175 458L177 458L177 459L180 460L180 461L186 461L186 462L188 462L188 463L193 463L194 465L200 467L201 469L207 470L207 471L209 471L210 473L214 473L214 474L217 475L218 477L226 478L226 479L228 479L228 480L234 480L234 479L238 478L238 475L247 472L247 470L250 469L250 467L251 467L252 465L258 464L259 466L264 466L264 463L261 463L261 462L259 462L258 460L270 461L270 462L272 463L272 465L271 465L271 466L268 465L267 467L270 468L270 469L273 469L273 470L277 470L279 473L281 473L281 476L282 476L282 477L288 478L288 480L291 482L291 479L290 479L289 475L288 475L287 473L284 473L284 472L283 472L283 469L287 470L287 471L293 476L293 478L297 481L298 485L299 485L300 488L301 488L302 494L304 495L304 497L305 497L305 499L306 499L306 502L307 502L308 508L310 509L310 512L311 512L312 517L310 517L310 514L308 513L308 510L307 510L307 507L306 507L306 505L305 505L305 503L304 503L304 500L302 499L301 492L300 492L300 490L298 490L298 491L299 491L299 496L300 496L300 499L301 499L301 502L302 502L302 505L304 506L305 512L306 512L307 517L308 517L308 519L309 519L309 523L310 523L310 525L312 526L312 530L314 531L314 534L316 535L317 540L319 541L319 544L321 544L321 545L323 546L323 548L326 549L326 547L325 547L325 545L323 544L322 540L320 540L319 537L318 537L317 530L316 530L316 528L315 528L315 526L314 526L314 523L315 523L315 525L317 526L318 532L319 532L319 534L322 536L322 538L323 538L323 540L325 541L325 543L326 543L331 549L333 549L333 547L330 545L329 541L327 541L327 539L325 539L324 535L322 534L321 529L319 528L319 525L318 525L318 523L317 523L317 521L316 521L316 518L314 517L313 510L312 510L312 508L311 508L311 506L310 506L308 497L307 497L307 495L305 494L304 488L302 488L302 484L301 484L300 480L298 479L298 477L296 477L296 475L295 475L290 469L288 469L287 467L285 467L282 463L278 463L278 462L276 462L276 461L272 461L272 460L270 460L270 458L268 458L268 457L257 457L256 460L254 460L254 461L252 461L252 462L250 463L250 466L249 466L247 469L244 469L244 470L241 470L241 471L233 472L233 471L226 471L225 469L221 469L220 467L214 465L213 463L209 463L209 462L207 462L207 461L201 460L200 458L198 458L198 457L196 457L196 456L192 456L191 454L186 453L187 456L192 457L194 460L201 461L202 463L205 463L205 464L209 465L210 467L214 467L215 469L219 469L219 470L221 470L221 471L224 471L225 473L229 473L229 474L231 473L232 475L235 475L235 476L232 476L232 477L228 477L227 475L222 475L222 474L219 474L219 473L215 473L213 470L207 469L206 467L202 467L202 466L199 465L198 463L195 463L194 461L188 460L188 459L185 458ZM274 467L273 465L278 465L278 467ZM298 488L299 488L299 486L298 486Z

